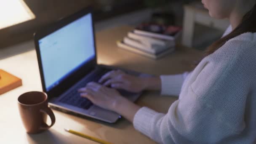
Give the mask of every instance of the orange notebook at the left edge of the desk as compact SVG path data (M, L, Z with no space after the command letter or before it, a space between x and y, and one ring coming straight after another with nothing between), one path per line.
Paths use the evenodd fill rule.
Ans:
M22 81L20 78L0 69L0 94L11 91L12 89L17 88L21 85Z

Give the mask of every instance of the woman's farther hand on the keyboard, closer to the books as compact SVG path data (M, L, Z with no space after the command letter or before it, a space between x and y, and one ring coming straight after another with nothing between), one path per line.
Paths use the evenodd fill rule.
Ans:
M121 70L107 72L101 77L99 83L112 88L124 89L131 92L141 92L146 88L142 77L128 75Z

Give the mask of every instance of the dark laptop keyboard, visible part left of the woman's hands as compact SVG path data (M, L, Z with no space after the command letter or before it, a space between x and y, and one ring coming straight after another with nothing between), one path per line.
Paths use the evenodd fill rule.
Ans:
M69 93L66 94L63 98L60 99L60 102L69 104L75 107L80 107L82 109L89 109L93 103L86 98L83 98L80 96L80 93L77 92L79 88L85 87L85 85L89 82L98 82L101 76L103 76L105 73L107 73L109 69L103 69L100 72L95 72L93 75L90 76L90 78L85 79L78 85L76 85L74 88L72 88L72 91L69 91Z

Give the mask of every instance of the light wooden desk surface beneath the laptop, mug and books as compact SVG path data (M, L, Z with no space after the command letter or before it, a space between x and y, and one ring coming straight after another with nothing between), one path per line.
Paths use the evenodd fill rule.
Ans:
M202 54L202 52L193 49L179 48L163 59L155 61L117 48L116 40L122 39L131 29L131 27L118 27L96 34L99 63L154 75L176 74L190 70L189 61L198 58ZM21 51L16 49L17 47L28 51L15 55L17 51ZM13 48L1 50L0 69L4 69L23 80L22 87L0 95L0 143L96 144L93 141L64 131L64 128L70 128L114 144L155 144L154 141L136 131L132 123L125 119L121 119L115 124L107 124L56 110L53 111L56 116L56 123L52 128L40 134L29 135L25 132L21 123L17 98L27 91L42 91L33 42L29 41L13 46ZM175 97L160 96L159 93L147 92L139 98L137 104L150 107L159 112L167 112L175 100Z

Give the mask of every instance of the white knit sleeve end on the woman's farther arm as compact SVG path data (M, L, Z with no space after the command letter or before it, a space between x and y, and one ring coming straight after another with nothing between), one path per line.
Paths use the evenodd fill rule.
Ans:
M182 84L188 75L189 72L178 75L161 75L161 95L179 96Z

